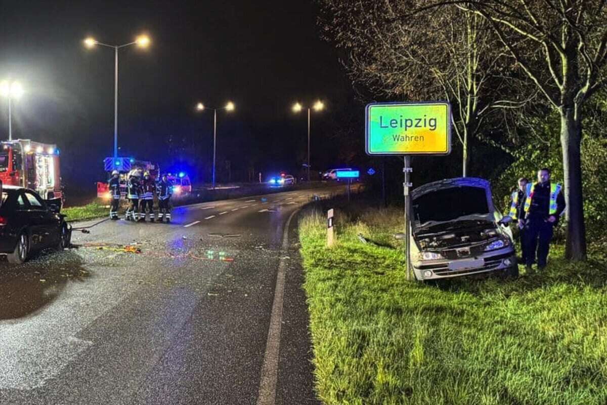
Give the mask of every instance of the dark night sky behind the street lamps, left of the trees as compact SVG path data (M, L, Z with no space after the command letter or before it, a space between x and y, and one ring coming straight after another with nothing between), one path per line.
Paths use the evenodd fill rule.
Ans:
M336 50L320 39L313 2L2 1L1 10L0 79L26 90L13 109L13 137L56 143L72 185L102 180L101 161L113 148L114 50L86 49L87 36L109 44L140 33L152 39L147 50L120 50L120 155L208 180L212 112L196 113L198 101L236 104L234 113L219 112L217 131L218 171L229 160L232 180L247 180L249 168L264 175L300 168L307 127L304 112L291 112L296 100L320 98L327 107L313 113L314 169L348 163L340 143L362 141L362 103ZM5 100L0 106L7 138Z

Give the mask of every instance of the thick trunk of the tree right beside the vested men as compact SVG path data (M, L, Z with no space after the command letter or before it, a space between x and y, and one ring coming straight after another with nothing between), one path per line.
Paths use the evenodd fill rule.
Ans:
M582 117L574 107L561 107L561 148L567 219L566 259L586 259L586 226L582 198Z

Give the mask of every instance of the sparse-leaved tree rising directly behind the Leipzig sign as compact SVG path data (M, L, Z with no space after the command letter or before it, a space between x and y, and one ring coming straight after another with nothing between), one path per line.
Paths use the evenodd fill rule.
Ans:
M354 83L371 94L450 101L468 174L469 140L500 108L524 104L512 88L498 37L482 16L456 7L404 19L424 0L321 0L325 37L348 54Z

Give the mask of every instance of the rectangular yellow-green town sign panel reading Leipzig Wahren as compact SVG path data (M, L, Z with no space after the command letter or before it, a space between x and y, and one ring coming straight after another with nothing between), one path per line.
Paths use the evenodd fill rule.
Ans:
M447 155L451 145L449 103L372 103L365 111L369 155Z

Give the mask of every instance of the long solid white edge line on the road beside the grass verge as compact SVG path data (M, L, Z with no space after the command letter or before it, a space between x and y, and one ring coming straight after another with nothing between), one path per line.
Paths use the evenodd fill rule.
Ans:
M274 302L272 304L272 315L270 316L270 328L268 330L268 341L263 355L262 376L259 383L259 395L257 405L274 405L276 401L276 380L278 378L278 360L280 349L280 325L282 324L282 304L285 293L285 256L289 248L289 226L291 219L299 209L291 213L282 236L282 251L280 252L280 264L276 274L276 288L274 289Z

